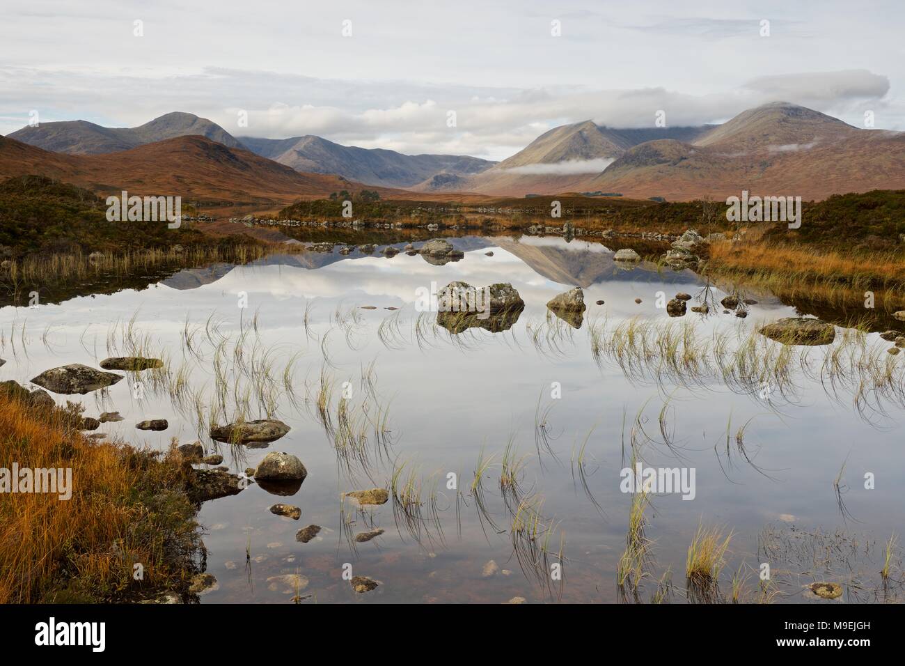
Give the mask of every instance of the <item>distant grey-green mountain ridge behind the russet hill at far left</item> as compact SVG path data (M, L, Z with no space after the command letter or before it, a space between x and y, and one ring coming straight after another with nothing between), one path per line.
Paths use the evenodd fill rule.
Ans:
M37 127L14 131L14 139L52 152L100 155L138 148L175 137L200 135L229 148L244 148L222 127L191 113L167 113L133 128L109 128L88 121L42 122Z

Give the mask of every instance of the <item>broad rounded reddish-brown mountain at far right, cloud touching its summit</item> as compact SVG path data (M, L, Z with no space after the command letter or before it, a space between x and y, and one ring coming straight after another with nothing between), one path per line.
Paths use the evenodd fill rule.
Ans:
M765 104L691 143L649 141L585 184L626 197L796 196L905 188L905 132L860 130L787 102Z

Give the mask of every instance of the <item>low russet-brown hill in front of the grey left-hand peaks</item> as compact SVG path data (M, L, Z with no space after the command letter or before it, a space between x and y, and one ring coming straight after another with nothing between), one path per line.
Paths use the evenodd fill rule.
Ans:
M202 136L176 137L103 155L66 155L0 137L0 178L35 174L100 194L287 204L358 187L344 179L304 174L248 150Z

